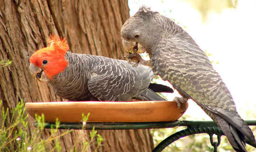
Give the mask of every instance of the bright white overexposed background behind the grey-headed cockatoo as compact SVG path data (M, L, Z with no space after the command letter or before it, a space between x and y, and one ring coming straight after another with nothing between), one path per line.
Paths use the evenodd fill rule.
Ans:
M256 0L238 0L236 9L212 12L204 23L200 12L182 0L128 0L128 4L131 16L146 5L186 26L201 49L212 54L210 60L219 62L213 66L228 86L241 117L256 118ZM210 119L193 101L185 114L192 120Z

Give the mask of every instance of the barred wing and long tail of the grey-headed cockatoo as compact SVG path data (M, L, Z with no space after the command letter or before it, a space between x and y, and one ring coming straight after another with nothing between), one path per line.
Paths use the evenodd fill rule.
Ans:
M246 151L243 134L255 141L228 88L188 34L164 38L152 54L152 69L195 101L221 127L235 150Z

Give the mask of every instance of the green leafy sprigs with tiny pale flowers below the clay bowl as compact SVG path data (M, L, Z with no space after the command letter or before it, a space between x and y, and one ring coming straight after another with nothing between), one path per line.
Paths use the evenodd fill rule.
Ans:
M0 101L0 107L2 107L2 101ZM60 134L58 129L60 122L56 120L56 128L49 129L49 135L43 137L45 130L44 115L36 116L38 127L32 132L29 132L27 129L27 114L25 113L24 103L22 101L12 110L8 108L4 109L3 107L0 109L2 113L0 115L0 152L61 152L60 138L74 131L66 130ZM82 115L83 127L86 125L88 117L89 115L86 117ZM97 131L94 128L90 132L90 138L89 142L83 141L82 152L86 152L92 142L96 142L97 144L95 152L101 146L103 138L101 135L97 135ZM77 142L76 140L74 143ZM74 145L71 151L77 152Z

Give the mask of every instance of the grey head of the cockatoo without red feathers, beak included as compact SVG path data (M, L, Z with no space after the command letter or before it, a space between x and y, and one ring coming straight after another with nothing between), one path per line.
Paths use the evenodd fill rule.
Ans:
M166 17L150 8L140 7L122 26L121 37L125 50L130 53L151 53L154 45L163 37L165 19Z

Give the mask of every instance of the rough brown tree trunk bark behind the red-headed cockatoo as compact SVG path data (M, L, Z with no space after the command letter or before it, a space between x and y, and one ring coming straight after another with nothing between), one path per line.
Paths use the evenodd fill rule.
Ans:
M0 60L12 60L0 68L0 99L4 107L18 101L60 101L50 85L37 82L28 69L29 57L46 46L49 34L66 38L71 51L123 59L120 29L129 17L127 0L0 0ZM29 130L34 120L28 118ZM60 133L63 131L60 131ZM148 130L99 131L105 139L101 152L149 152L153 148ZM49 135L46 130L44 137ZM80 135L77 148L88 131L61 138L68 151ZM81 136L82 135L82 136ZM94 151L92 145L89 151Z

